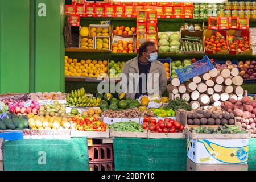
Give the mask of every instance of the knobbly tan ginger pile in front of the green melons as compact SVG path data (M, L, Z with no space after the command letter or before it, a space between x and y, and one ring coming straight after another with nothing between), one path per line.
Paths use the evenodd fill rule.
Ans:
M153 112L141 111L138 108L134 108L121 111L106 110L101 113L101 116L108 118L144 118L146 116L155 117L155 114Z

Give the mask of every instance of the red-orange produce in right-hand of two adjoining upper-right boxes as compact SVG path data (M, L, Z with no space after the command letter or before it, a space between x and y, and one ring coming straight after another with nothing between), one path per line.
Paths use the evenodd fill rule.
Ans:
M239 52L250 49L249 40L247 36L229 35L228 43L230 50L238 50Z

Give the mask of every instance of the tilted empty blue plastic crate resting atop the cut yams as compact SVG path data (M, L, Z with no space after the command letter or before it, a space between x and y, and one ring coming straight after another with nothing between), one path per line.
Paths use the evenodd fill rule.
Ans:
M204 56L202 60L197 61L196 63L193 63L181 69L175 69L175 72L177 73L180 81L185 82L186 80L189 80L190 78L193 78L195 76L202 75L203 73L206 73L211 69L213 69L213 65L210 62L209 57Z

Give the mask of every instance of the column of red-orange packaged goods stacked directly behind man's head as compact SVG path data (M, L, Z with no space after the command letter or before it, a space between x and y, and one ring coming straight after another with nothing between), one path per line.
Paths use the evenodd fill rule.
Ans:
M158 49L157 41L157 12L138 10L137 11L137 53L143 42L152 41Z

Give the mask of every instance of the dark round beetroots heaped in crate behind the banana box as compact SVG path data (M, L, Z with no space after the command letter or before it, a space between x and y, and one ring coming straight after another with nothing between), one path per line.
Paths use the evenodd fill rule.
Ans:
M188 125L234 125L233 113L222 111L220 107L211 107L209 110L197 109L187 112Z

